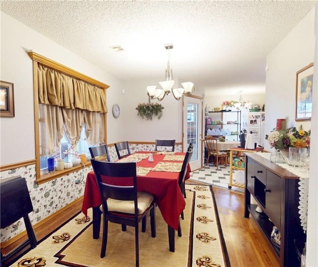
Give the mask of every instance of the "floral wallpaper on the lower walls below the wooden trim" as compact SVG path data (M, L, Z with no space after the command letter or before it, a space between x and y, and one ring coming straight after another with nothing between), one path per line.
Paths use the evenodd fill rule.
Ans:
M176 152L181 152L181 145L175 146ZM154 151L154 144L130 144L131 153L137 151ZM111 161L118 159L115 146L108 148ZM59 177L47 183L38 185L35 179L35 165L24 166L0 172L0 179L18 176L24 177L32 200L33 212L29 213L32 225L43 220L59 209L83 196L87 173L92 171L91 166L82 170ZM79 181L79 183L76 183ZM18 235L25 230L23 219L1 229L1 243Z

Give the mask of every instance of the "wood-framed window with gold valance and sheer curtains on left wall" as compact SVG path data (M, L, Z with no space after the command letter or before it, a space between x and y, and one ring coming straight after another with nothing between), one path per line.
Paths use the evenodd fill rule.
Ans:
M85 153L88 151L88 140L92 143L95 132L98 132L100 143L106 143L105 89L109 86L35 53L28 54L33 60L34 75L36 180L43 183L66 174L48 176L41 173L41 169L47 168L48 156L56 155L57 151L62 156L65 148L70 148L70 140L77 145L77 151ZM48 72L45 72L47 69ZM69 104L71 107L67 106ZM80 133L79 136L73 132L69 134L74 129L70 130L67 124L76 127L75 133ZM99 136L99 133L103 133L103 136Z

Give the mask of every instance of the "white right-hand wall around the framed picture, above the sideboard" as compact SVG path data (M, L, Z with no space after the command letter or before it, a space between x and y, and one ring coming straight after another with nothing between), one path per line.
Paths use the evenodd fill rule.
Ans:
M309 130L312 122L296 123L296 72L314 62L315 9L271 51L266 64L265 132L276 127L276 119L288 118L288 127L303 125ZM268 142L265 148L270 149Z

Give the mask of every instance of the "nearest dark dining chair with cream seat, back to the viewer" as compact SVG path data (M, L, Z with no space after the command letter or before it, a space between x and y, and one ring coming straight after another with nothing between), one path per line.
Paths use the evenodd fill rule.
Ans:
M150 211L151 236L156 237L155 198L137 191L136 162L91 160L103 207L103 234L100 257L106 254L108 221L135 227L136 267L139 266L139 222ZM145 224L146 226L146 224ZM126 230L123 229L124 231ZM145 232L146 228L142 227ZM114 237L115 238L115 237Z

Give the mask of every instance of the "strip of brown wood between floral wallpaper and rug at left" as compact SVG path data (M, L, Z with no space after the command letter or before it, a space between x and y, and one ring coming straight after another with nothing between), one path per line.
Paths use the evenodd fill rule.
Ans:
M50 235L61 225L66 223L70 218L74 217L81 210L83 198L80 197L72 203L54 212L52 215L39 221L33 225L33 229L37 238L37 241L41 241L46 236ZM1 243L1 251L3 254L8 253L13 248L21 244L27 239L26 231L12 237L10 240Z

